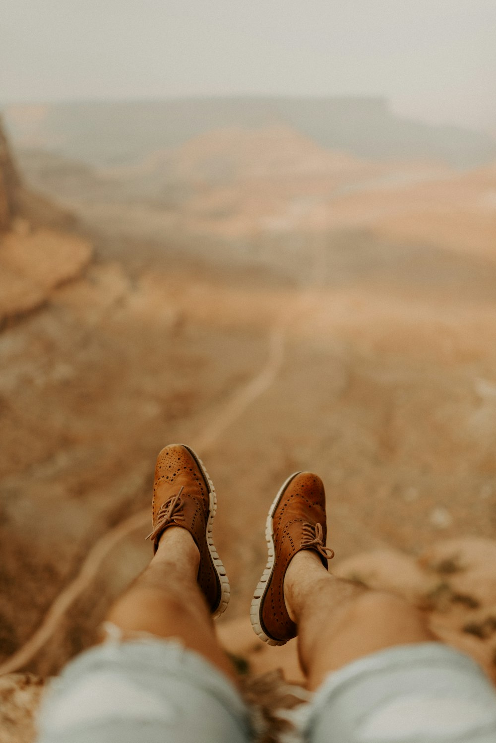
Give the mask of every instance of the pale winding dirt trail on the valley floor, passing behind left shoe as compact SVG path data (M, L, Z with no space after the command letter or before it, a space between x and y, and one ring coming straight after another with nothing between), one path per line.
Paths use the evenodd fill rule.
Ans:
M200 450L202 456L203 452L209 450L223 432L241 417L249 405L270 388L275 381L275 377L277 377L279 369L281 369L283 360L284 327L283 323L280 322L270 331L269 354L261 371L255 377L252 377L247 385L238 389L227 400L226 405L219 411L214 421L206 426L197 438L193 439L192 446L196 450ZM105 557L125 536L138 529L146 528L149 524L149 519L150 509L140 510L132 516L128 516L127 519L124 519L117 526L109 529L107 533L98 539L88 552L79 573L53 601L36 632L7 661L0 665L0 675L18 671L29 663L56 631L68 608L88 588L88 585L91 585L94 578L97 577Z

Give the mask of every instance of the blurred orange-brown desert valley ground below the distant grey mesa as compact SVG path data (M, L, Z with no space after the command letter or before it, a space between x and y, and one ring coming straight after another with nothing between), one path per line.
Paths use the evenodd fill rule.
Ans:
M310 469L336 570L420 603L494 676L495 167L284 127L112 168L19 158L79 223L24 215L0 244L25 282L0 298L1 669L51 675L94 640L150 557L157 451L184 441L218 491L221 633L254 669L297 678L291 643L255 652L243 628L267 504Z

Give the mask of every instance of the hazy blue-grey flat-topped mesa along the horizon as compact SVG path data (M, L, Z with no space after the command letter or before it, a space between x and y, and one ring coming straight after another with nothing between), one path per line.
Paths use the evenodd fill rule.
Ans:
M469 168L496 159L481 132L398 117L366 97L217 97L7 106L20 147L41 147L97 165L142 160L212 129L290 127L326 149L358 158L443 160Z

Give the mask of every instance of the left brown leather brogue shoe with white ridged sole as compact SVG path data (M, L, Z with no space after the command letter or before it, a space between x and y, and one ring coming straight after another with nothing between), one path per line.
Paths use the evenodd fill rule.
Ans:
M212 541L217 497L203 462L184 444L170 444L157 458L151 522L146 537L157 551L160 536L169 526L189 531L200 551L198 585L210 611L219 617L229 603L229 580Z

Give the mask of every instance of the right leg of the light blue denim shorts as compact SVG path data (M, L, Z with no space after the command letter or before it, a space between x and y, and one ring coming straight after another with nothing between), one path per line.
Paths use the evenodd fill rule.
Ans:
M496 692L441 643L385 649L330 674L313 698L312 743L495 743Z

